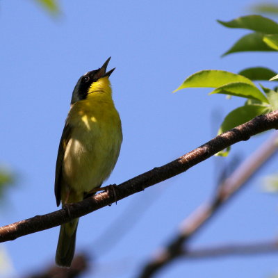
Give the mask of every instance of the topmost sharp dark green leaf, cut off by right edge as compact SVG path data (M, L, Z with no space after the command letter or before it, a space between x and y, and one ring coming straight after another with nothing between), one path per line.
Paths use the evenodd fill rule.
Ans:
M229 28L245 28L265 34L278 33L278 24L272 19L261 15L246 15L230 22L222 22L221 20L218 20L218 22Z

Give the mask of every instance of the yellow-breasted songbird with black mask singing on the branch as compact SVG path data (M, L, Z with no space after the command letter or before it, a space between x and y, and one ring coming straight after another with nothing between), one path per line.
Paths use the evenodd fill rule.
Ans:
M72 92L70 111L60 138L55 173L57 206L80 202L110 176L122 145L122 124L106 72L111 57L98 70L85 73ZM69 268L74 257L79 218L60 226L56 264Z

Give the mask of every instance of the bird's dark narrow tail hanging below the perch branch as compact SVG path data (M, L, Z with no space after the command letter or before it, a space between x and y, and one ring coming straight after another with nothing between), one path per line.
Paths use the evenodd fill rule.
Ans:
M60 226L59 240L56 250L56 264L70 268L75 250L76 230L79 218Z

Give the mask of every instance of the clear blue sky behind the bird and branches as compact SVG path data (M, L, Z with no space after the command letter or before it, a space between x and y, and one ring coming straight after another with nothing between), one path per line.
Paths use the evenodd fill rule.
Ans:
M97 69L109 56L108 68L116 67L111 83L124 142L107 185L170 162L215 136L224 115L244 100L208 96L206 89L171 92L199 70L239 72L257 65L276 70L277 54L220 58L248 32L224 28L216 19L246 15L251 3L60 1L62 15L52 19L33 1L0 1L0 162L18 176L1 207L1 224L56 210L56 154L72 90L79 76ZM244 159L268 136L240 142L231 157ZM135 277L177 233L181 221L212 195L215 172L231 157L218 158L218 163L210 158L82 218L76 250L87 250L95 258L94 268L83 277ZM263 177L275 171L273 159L190 246L275 238L277 197L261 190ZM101 238L104 233L108 237ZM57 240L58 227L3 244L13 264L13 274L5 277L21 277L54 263ZM277 255L272 254L179 260L157 277L268 277L276 270Z

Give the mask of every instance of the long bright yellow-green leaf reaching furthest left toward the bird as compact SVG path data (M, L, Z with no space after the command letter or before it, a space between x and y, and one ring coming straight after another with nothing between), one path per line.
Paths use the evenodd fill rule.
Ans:
M225 72L224 70L202 70L190 75L174 92L185 88L218 88L231 82L254 85L250 79L239 74Z

